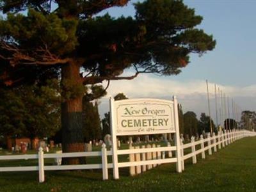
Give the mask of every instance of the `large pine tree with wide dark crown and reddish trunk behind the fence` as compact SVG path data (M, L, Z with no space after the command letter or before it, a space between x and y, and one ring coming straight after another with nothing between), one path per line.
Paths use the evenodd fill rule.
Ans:
M0 83L15 86L61 77L63 152L84 151L84 85L148 72L178 74L191 52L214 49L212 36L195 28L202 17L182 1L135 3L134 18L96 16L128 1L0 1L0 10L8 13L0 20ZM133 75L121 76L131 67ZM79 159L68 163L78 164Z

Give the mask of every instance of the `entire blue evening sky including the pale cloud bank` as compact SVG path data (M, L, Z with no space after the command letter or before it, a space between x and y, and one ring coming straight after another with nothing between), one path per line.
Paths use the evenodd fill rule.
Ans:
M133 16L134 2L137 1L102 14ZM100 100L101 116L108 111L109 97L119 92L129 98L172 99L172 95L176 95L184 112L195 111L198 116L202 112L208 114L206 79L209 81L211 114L215 113L214 84L217 84L217 91L220 88L230 98L230 108L231 99L234 99L241 110L256 110L256 1L186 0L184 4L195 8L196 15L204 17L198 28L214 36L216 48L201 57L191 54L188 67L177 76L141 74L132 81L112 81L108 95ZM219 111L220 99L217 103ZM216 117L212 115L212 118Z

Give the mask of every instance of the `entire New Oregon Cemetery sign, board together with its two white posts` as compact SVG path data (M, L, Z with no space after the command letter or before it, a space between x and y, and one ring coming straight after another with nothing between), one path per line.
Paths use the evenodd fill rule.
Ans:
M110 99L113 175L119 178L116 136L175 133L177 172L181 172L177 100Z

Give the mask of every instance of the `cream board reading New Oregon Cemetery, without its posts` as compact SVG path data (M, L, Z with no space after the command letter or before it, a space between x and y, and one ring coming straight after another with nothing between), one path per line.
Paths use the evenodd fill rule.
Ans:
M175 132L173 102L127 99L115 102L116 136Z

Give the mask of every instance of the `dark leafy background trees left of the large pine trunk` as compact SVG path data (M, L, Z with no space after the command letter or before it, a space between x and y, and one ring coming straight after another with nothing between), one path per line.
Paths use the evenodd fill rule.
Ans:
M44 138L60 129L58 81L0 88L0 132L4 136Z

